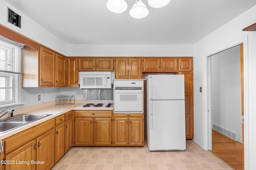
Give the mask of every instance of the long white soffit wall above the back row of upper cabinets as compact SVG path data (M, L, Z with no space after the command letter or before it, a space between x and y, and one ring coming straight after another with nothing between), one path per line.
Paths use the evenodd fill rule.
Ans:
M193 45L67 45L67 56L192 57Z

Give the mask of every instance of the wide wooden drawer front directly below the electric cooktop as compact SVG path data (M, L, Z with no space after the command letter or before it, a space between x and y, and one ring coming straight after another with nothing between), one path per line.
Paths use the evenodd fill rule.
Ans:
M75 111L75 117L111 117L112 110L86 110L86 111Z

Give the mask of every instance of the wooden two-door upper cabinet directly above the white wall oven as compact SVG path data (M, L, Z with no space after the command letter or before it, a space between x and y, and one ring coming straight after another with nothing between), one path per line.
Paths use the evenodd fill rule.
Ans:
M117 58L116 78L142 78L141 63L140 58Z

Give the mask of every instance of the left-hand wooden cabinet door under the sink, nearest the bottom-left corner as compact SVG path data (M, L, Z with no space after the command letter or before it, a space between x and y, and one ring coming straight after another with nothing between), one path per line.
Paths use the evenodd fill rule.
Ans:
M10 152L5 160L14 161L13 164L5 164L5 170L35 170L36 164L31 164L31 160L36 160L36 140Z

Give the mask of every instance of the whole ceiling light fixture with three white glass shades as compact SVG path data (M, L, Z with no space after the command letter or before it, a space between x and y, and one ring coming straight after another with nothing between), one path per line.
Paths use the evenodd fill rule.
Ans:
M135 4L130 10L130 16L136 19L148 16L148 9L142 0L134 0ZM148 0L149 6L152 8L162 8L169 4L170 0ZM127 3L124 0L108 0L107 8L114 13L122 13L127 9Z

